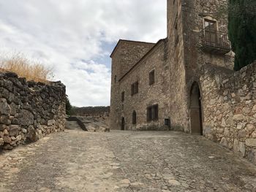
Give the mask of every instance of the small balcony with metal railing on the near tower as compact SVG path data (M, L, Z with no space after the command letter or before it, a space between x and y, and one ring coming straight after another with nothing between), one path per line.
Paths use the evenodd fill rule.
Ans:
M230 52L231 48L227 34L220 33L219 31L206 30L203 30L201 33L203 37L201 49L203 51L221 55Z

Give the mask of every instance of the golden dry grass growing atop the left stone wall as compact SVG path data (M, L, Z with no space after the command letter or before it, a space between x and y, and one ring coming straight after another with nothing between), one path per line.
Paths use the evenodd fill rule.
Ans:
M31 61L21 54L1 57L0 68L1 71L15 72L19 77L26 77L26 80L34 80L35 82L47 83L53 78L52 69L48 69L39 61Z

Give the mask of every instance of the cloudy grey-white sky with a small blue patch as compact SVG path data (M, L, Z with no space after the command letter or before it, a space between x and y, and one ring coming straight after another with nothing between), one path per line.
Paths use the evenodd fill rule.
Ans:
M110 104L118 39L165 37L166 0L0 0L0 53L51 67L78 107Z

